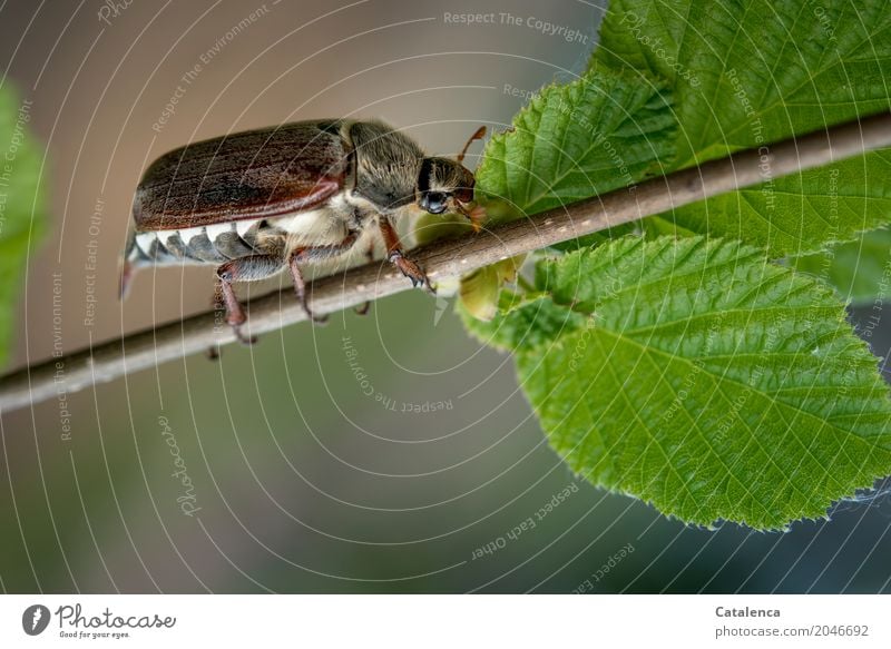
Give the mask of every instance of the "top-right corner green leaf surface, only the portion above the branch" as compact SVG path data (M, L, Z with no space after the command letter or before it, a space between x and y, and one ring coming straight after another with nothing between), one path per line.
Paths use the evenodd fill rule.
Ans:
M672 81L678 164L888 110L891 2L613 0L594 68Z

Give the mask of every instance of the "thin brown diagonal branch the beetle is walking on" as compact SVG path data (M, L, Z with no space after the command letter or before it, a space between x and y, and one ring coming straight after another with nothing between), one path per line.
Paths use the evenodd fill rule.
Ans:
M770 147L741 151L477 235L435 242L413 249L412 258L435 282L717 194L889 146L891 114L882 114ZM314 313L326 314L409 288L409 281L392 267L373 263L313 282L310 304ZM306 319L290 289L253 299L248 306L246 333L262 334ZM215 312L129 334L92 350L80 350L3 376L0 378L0 413L234 341L228 325Z

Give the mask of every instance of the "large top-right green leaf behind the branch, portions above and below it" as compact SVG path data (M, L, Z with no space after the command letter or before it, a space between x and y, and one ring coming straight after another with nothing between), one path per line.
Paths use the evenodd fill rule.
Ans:
M668 79L677 168L889 108L891 3L615 0L591 69ZM889 154L685 206L682 230L774 257L817 252L891 219Z

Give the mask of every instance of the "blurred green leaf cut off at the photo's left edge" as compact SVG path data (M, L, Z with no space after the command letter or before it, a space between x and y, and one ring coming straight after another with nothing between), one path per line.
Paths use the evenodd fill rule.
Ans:
M31 104L0 86L0 365L7 361L16 323L22 267L43 233L41 147L29 130Z

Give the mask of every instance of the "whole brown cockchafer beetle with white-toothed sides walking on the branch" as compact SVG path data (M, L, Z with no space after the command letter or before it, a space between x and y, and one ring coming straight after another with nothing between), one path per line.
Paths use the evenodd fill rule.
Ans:
M237 132L170 151L136 189L121 294L140 266L214 264L216 303L238 340L249 343L234 283L288 269L312 317L302 266L342 257L359 242L373 245L374 236L413 285L432 291L405 256L394 220L417 205L431 214L457 212L479 229L484 213L472 205L473 174L461 163L484 132L474 132L457 160L427 156L380 121L342 119Z

